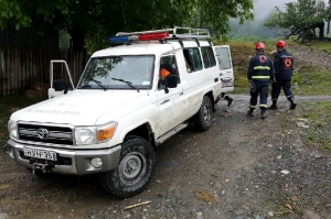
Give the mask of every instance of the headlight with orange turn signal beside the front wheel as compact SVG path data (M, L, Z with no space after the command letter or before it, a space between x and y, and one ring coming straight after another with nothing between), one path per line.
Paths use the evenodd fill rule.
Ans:
M116 122L97 127L77 127L75 128L76 145L96 144L108 141L113 138L116 127Z

